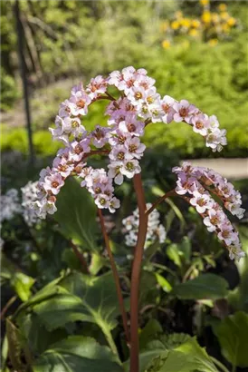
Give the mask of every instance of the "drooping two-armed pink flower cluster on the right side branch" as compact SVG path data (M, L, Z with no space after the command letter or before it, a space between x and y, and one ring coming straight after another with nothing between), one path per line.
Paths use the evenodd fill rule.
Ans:
M219 173L205 167L193 167L190 163L184 162L173 171L178 179L176 193L186 197L203 217L207 230L215 231L218 239L224 241L231 259L243 257L238 232L228 220L223 208L212 197L212 194L215 194L224 203L226 210L242 219L244 210L241 208L240 192Z

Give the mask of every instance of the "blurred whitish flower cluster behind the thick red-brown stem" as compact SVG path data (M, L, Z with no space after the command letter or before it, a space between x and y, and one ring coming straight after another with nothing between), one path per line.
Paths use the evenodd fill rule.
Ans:
M147 210L151 207L150 203L147 203ZM159 221L160 214L157 210L153 210L148 216L148 231L146 237L145 249L158 240L160 243L164 243L167 237L165 227ZM138 240L138 209L134 210L126 219L122 220L122 224L127 230L125 235L126 245L129 247L135 247Z

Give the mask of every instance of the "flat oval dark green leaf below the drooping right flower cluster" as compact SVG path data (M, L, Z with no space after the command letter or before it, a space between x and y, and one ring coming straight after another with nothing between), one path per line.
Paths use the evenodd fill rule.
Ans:
M196 279L177 284L173 292L180 299L223 299L228 283L215 274L200 274Z

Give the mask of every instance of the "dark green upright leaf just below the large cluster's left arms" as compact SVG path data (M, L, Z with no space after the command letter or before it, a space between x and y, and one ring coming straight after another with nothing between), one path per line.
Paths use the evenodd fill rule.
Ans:
M58 210L54 219L61 226L66 238L78 241L89 250L96 250L96 205L88 191L81 188L74 179L66 180L65 186L58 195Z

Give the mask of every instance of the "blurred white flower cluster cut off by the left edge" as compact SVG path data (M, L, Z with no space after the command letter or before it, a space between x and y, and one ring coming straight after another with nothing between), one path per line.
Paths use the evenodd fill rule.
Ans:
M15 214L22 213L18 191L9 189L5 195L0 195L0 223L4 220L12 220Z

